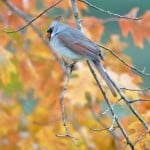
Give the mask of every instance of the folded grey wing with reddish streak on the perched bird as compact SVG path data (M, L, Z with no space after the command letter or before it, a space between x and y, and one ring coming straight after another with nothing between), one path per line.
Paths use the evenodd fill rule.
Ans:
M78 55L91 60L102 58L99 47L85 37L79 30L68 27L58 34L58 39L67 48Z

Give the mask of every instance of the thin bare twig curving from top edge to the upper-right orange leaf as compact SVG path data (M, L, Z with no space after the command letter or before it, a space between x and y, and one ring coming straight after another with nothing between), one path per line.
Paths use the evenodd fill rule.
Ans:
M83 2L84 4L88 5L89 7L92 7L92 8L94 8L94 9L96 9L96 10L102 12L102 13L106 13L108 15L111 15L111 16L114 16L114 17L117 17L117 18L130 19L130 20L141 20L142 19L142 18L133 18L133 17L121 16L119 14L116 14L116 13L110 12L108 10L104 10L100 7L97 7L97 6L87 2L86 0L78 0L78 1Z

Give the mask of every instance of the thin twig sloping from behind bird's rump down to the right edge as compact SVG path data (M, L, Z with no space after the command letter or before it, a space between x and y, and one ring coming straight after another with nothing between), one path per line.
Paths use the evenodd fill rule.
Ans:
M119 55L117 55L113 50L111 50L110 48L107 48L101 44L97 44L99 47L102 47L104 48L105 50L109 51L112 55L114 55L120 62L122 62L123 64L125 64L127 67L129 67L130 69L142 74L142 75L145 75L145 76L150 76L149 73L145 73L143 70L140 70L130 64L128 64L125 60L123 60Z

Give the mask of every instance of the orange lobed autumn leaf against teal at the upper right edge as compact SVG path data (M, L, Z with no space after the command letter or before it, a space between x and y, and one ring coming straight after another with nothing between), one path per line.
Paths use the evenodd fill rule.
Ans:
M126 16L134 17L138 12L138 8L133 8ZM123 36L127 37L131 33L134 43L143 48L143 41L150 41L150 11L144 13L141 20L125 20L120 19L119 25Z

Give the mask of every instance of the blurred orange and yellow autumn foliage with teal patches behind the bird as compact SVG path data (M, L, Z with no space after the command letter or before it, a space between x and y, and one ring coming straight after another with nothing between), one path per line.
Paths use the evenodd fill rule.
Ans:
M32 2L7 0L7 2L11 8L5 0L0 1L0 150L130 149L128 146L122 147L125 140L118 129L113 132L114 134L105 130L102 132L91 130L110 127L112 117L109 113L102 115L107 105L85 63L78 63L65 97L69 131L78 140L71 141L55 136L64 133L59 98L65 75L61 65L51 53L44 35L48 25L57 15L62 15L65 23L76 27L71 3L64 0L36 20L33 23L34 27L29 26L20 32L7 33L6 30L13 31L25 25L26 21L23 18L29 21L52 5L55 0L32 0ZM131 14L134 7L139 8L135 14L137 16L144 16L146 11L149 12L147 0L132 0L132 2L89 0L89 2L120 15ZM125 61L141 69L146 67L146 72L150 72L148 37L142 39L144 46L140 48L139 43L133 41L134 35L123 36L122 32L126 28L122 29L118 20L107 21L108 18L110 20L114 18L88 8L83 3L77 5L86 36L113 49ZM14 12L13 9L16 7L22 12L21 16ZM147 23L150 29L148 21L144 23ZM139 30L141 35L149 31L145 31L145 28ZM139 76L111 54L103 51L105 54L103 65L120 87L139 89L140 85L143 87L150 85L148 76ZM105 84L103 85L105 87ZM112 103L115 103L116 99L109 89L105 87L105 90ZM150 95L149 91L144 93L124 91L124 93L130 100L148 99ZM149 123L150 104L139 102L135 103L134 107ZM135 141L144 132L143 126L123 102L116 105L114 110L130 139ZM148 149L149 139L149 135L146 135L144 140L137 143L136 149Z

